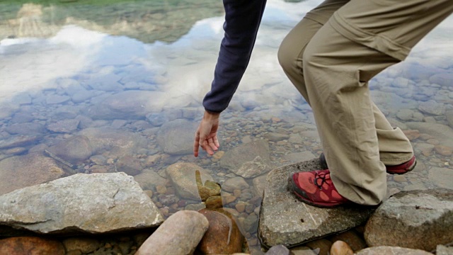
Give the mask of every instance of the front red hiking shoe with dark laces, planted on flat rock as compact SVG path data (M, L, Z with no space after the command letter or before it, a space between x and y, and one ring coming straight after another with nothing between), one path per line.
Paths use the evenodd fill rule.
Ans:
M288 187L299 200L316 207L331 208L352 203L343 198L333 186L331 172L328 169L292 174Z

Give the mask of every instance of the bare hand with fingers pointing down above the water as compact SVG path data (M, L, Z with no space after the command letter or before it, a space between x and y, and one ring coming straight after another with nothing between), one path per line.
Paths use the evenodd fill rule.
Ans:
M219 149L219 140L217 139L217 129L219 128L220 113L205 111L203 119L195 132L195 141L193 142L193 155L198 157L198 149L201 148L207 154L214 154Z

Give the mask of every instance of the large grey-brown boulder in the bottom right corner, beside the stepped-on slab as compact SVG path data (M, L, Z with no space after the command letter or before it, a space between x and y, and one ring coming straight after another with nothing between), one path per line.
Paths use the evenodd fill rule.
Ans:
M369 246L432 251L437 244L451 242L452 228L452 190L401 191L385 200L369 218L365 240Z

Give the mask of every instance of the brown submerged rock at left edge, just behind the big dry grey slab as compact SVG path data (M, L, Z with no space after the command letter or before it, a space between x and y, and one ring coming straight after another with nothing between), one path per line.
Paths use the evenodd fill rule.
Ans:
M64 175L64 171L54 159L40 153L9 157L0 161L0 195L52 181Z

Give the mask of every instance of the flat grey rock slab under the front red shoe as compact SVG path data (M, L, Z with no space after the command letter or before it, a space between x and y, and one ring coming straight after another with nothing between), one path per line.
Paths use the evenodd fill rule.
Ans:
M264 246L296 246L365 223L375 207L345 205L316 208L287 191L289 174L321 169L319 159L281 166L270 171L260 209L258 232Z

